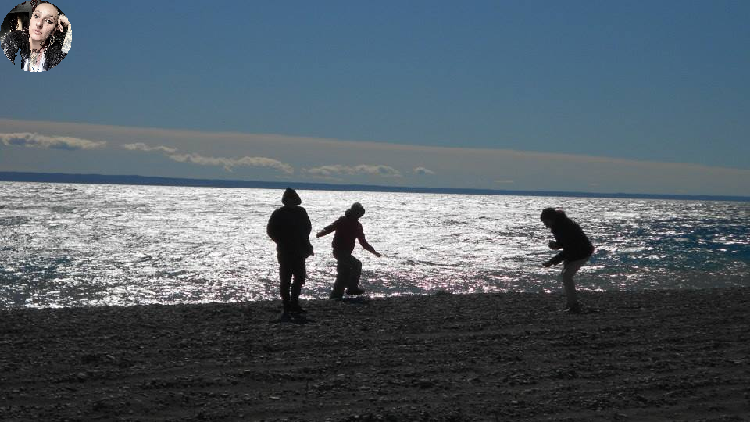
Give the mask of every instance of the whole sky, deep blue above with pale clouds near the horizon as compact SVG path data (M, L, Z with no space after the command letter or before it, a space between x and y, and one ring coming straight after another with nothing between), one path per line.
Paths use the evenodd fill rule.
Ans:
M750 2L236 3L56 2L0 171L750 195Z

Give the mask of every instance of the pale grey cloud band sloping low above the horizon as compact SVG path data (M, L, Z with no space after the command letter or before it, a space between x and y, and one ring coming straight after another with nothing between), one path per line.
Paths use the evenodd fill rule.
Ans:
M700 164L1 119L0 171L750 196L750 170Z

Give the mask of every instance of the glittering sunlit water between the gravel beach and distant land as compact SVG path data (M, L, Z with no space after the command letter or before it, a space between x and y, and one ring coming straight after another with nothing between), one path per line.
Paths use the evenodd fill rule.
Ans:
M313 224L306 298L336 274L332 235L352 202L376 258L359 246L372 296L558 291L547 206L578 221L597 251L581 289L750 286L750 203L300 191ZM265 234L281 190L0 182L0 308L273 299Z

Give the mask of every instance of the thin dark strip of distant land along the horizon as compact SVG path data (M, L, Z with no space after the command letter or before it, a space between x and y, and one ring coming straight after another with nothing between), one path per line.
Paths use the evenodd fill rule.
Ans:
M412 193L433 193L433 194L452 194L452 195L525 195L525 196L563 196L563 197L576 197L576 198L680 199L680 200L699 200L699 201L750 202L750 197L747 197L747 196L650 195L650 194L633 194L633 193L424 188L424 187L345 185L345 184L304 183L304 182L264 182L264 181L241 181L241 180L182 179L182 178L174 178L174 177L110 176L110 175L103 175L103 174L0 172L0 181L39 182L39 183L73 183L73 184L96 184L96 185L188 186L188 187L212 187L212 188L285 189L287 187L293 187L299 190L328 190L328 191L412 192Z

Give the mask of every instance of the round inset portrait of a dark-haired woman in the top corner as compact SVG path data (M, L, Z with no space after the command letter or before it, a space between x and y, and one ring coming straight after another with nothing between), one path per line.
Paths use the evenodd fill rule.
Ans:
M8 59L21 69L44 72L62 62L70 51L73 29L59 7L48 1L25 1L3 20L0 43Z

